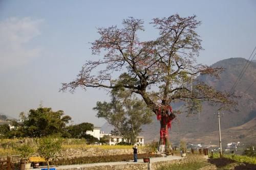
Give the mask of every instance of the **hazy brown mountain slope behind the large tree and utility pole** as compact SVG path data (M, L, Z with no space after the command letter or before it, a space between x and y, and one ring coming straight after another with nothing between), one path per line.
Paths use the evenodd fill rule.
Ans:
M247 60L243 58L230 58L219 61L212 65L212 67L221 66L225 68L225 71L221 74L220 80L212 79L207 76L200 76L198 79L214 86L220 91L229 92L233 84L237 81L246 62ZM221 114L222 129L241 126L256 117L256 92L254 91L254 89L256 89L256 83L246 90L254 80L256 80L256 63L252 62L234 90L234 94L241 96L241 98L237 99L238 111L221 112L223 113ZM175 110L175 106L173 106L173 108ZM172 125L172 132L170 132L170 141L177 143L181 138L186 138L184 135L191 135L192 138L188 138L189 140L196 138L204 138L206 140L206 137L201 136L214 134L211 132L218 130L218 118L215 114L217 110L218 108L204 103L202 112L197 115L187 116L186 113L177 115ZM156 120L156 117L154 117L154 122L151 125L143 127L142 135L145 136L146 141L158 140L159 122ZM212 140L215 138L212 138Z

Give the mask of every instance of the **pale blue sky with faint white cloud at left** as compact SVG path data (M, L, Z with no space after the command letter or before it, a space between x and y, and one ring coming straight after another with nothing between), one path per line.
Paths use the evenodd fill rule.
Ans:
M121 25L129 16L143 19L141 39L157 36L148 25L155 17L197 15L207 65L249 57L256 45L256 1L5 1L0 0L0 114L14 117L45 107L63 110L74 123L101 126L92 108L108 100L104 90L58 92L93 57L96 28Z

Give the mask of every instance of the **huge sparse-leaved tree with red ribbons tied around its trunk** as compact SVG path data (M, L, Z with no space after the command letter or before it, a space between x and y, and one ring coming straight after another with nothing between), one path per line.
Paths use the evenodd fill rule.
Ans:
M160 144L164 145L168 139L167 128L175 118L171 103L183 102L191 113L198 110L203 101L211 104L230 104L231 101L227 93L196 81L199 75L219 78L223 69L197 64L196 57L202 46L196 28L201 21L196 20L195 15L175 14L154 18L150 23L159 31L159 37L149 41L138 38L138 33L144 31L141 19L124 19L122 29L99 28L100 38L92 42L92 53L102 57L87 61L74 81L62 84L62 90L126 88L140 94L157 114L161 125ZM120 76L114 79L117 74Z

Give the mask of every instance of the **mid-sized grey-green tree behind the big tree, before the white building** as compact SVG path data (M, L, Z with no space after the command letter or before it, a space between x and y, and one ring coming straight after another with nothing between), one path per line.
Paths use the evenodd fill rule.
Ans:
M142 131L141 126L152 122L152 110L124 89L112 90L111 97L110 103L97 102L93 109L98 111L97 117L106 119L114 127L112 134L121 135L134 144Z

